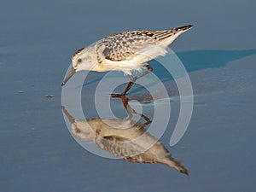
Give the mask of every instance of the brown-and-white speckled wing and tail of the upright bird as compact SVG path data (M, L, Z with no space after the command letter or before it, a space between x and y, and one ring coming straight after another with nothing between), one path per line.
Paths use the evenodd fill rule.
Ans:
M104 59L129 61L143 53L152 55L152 58L165 55L167 46L190 27L192 26L182 26L164 31L131 31L109 35L96 44L98 59L100 61ZM152 50L148 51L147 49Z

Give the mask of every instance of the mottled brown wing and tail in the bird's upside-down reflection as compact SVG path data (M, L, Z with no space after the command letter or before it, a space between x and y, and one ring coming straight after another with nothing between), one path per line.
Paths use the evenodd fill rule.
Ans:
M145 134L148 137L153 137L147 132ZM160 142L154 143L149 149L144 148L143 143L136 143L119 136L97 136L95 142L99 148L128 162L163 164L175 168L178 172L189 173L179 161L172 158L172 155Z

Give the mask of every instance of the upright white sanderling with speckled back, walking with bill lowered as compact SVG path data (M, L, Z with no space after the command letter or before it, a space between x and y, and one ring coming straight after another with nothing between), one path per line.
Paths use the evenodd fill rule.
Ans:
M79 49L73 54L73 67L61 86L66 84L74 73L81 70L122 71L130 77L130 82L121 94L111 96L125 96L137 79L152 72L153 68L147 61L166 55L168 45L191 27L192 25L163 31L119 32L102 38L94 46ZM140 72L143 67L147 67L148 70L136 77L132 76L132 71Z

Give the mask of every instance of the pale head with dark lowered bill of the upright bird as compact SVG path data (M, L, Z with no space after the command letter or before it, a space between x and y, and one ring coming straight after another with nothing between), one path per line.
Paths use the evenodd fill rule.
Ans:
M82 70L91 70L96 65L96 54L93 47L91 48L82 48L77 50L72 56L72 68L67 73L64 81L61 86L65 85L69 79L73 76L74 73Z

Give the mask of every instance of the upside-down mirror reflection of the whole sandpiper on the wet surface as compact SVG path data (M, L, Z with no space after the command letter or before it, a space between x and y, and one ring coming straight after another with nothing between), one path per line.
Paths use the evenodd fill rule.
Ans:
M189 174L188 170L174 158L154 136L145 130L151 121L143 114L135 112L128 105L127 97L122 97L124 107L129 113L128 119L74 119L62 107L63 113L71 123L71 132L79 140L93 141L102 150L128 162L163 164L178 172ZM139 114L146 123L132 120L132 113Z

